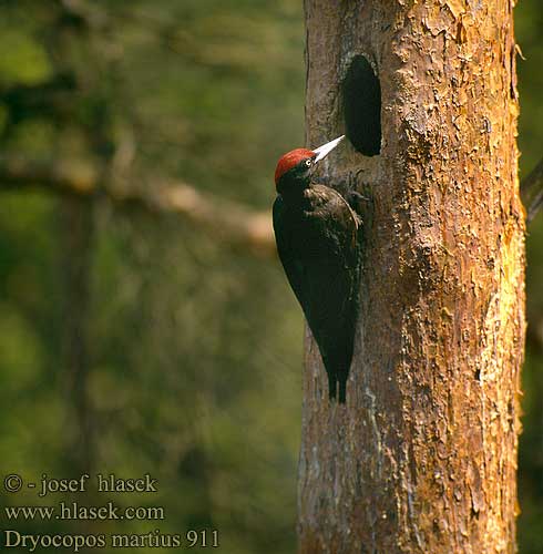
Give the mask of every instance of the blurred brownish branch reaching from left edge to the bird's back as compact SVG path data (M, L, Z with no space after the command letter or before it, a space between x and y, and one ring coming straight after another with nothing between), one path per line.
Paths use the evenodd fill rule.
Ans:
M93 197L105 195L115 204L139 204L155 213L176 214L216 233L217 240L242 245L254 254L275 253L272 218L267 212L203 194L182 182L161 182L130 188L102 186L95 167L75 162L0 160L0 189L22 191L32 186L54 193Z

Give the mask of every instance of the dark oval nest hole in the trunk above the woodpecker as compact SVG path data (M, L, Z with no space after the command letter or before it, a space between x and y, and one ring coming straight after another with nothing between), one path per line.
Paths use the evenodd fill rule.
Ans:
M363 55L356 55L342 83L345 134L365 156L381 151L381 84Z

